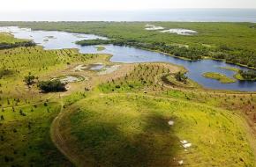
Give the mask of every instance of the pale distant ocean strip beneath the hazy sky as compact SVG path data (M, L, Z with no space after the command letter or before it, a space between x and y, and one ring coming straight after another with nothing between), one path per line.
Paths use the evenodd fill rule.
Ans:
M253 22L256 9L169 9L147 11L0 11L1 21L188 21Z

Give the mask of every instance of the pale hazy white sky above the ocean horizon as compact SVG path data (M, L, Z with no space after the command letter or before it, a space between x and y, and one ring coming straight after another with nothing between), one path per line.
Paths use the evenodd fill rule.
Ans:
M2 0L0 11L256 8L256 0Z

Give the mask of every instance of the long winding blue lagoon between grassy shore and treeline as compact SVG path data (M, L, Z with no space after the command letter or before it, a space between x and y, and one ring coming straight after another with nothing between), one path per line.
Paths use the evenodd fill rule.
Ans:
M207 89L230 90L230 91L256 91L256 82L237 81L232 84L221 84L216 80L202 76L206 72L221 73L233 78L235 71L222 69L220 67L231 67L237 69L248 69L229 62L204 59L200 61L188 61L168 54L156 53L142 50L135 47L121 47L113 45L103 45L105 50L99 51L94 46L82 47L75 44L78 40L93 40L107 38L83 33L67 33L58 31L33 31L29 28L19 28L17 26L0 27L0 32L12 33L15 38L34 40L35 43L45 49L78 48L82 54L112 54L110 62L170 62L181 65L188 70L187 76L193 81L201 84ZM49 38L51 37L51 38ZM47 39L47 40L46 40Z

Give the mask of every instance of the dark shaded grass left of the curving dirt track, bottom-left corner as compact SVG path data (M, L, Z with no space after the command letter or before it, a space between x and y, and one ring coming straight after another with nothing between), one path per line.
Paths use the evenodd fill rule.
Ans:
M0 113L1 166L71 165L49 137L51 121L59 113L58 103L3 108Z

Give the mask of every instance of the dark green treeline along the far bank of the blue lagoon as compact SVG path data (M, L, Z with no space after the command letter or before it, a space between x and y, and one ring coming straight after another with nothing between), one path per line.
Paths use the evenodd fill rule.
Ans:
M207 47L181 47L175 45L168 45L165 42L143 43L137 40L81 40L77 44L81 46L90 45L108 45L113 44L117 46L139 47L144 49L161 51L166 54L173 54L177 57L184 57L190 60L200 60L204 56L209 56L215 59L221 59L237 64L245 64L248 67L256 68L256 53L253 51L230 48L225 45L219 48Z

